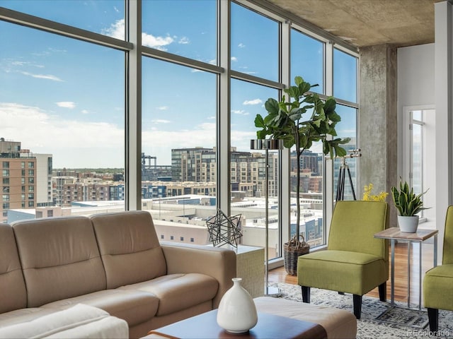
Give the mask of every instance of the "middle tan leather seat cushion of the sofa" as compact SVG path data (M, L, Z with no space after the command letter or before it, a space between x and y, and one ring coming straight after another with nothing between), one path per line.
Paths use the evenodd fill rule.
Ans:
M87 304L124 319L129 327L149 321L156 315L159 299L148 292L137 290L103 290L42 305L44 309L67 309L76 304Z

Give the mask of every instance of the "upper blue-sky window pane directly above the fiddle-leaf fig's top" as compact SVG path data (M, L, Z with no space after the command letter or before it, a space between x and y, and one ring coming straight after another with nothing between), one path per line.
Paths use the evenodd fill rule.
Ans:
M291 81L294 77L302 76L316 93L324 90L324 44L319 40L304 35L298 30L291 30Z

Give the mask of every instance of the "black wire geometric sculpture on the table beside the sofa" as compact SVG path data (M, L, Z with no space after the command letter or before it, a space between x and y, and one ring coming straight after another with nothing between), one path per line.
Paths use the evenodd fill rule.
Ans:
M241 214L227 217L222 210L217 210L217 214L206 220L207 230L210 232L210 242L214 246L230 244L237 248L238 241L242 237Z

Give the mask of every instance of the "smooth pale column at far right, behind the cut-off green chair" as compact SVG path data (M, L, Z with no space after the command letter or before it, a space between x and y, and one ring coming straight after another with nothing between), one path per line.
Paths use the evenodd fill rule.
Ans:
M452 173L452 4L435 4L435 103L436 103L436 227L438 258L442 258L447 207L453 203ZM442 261L439 261L442 263Z

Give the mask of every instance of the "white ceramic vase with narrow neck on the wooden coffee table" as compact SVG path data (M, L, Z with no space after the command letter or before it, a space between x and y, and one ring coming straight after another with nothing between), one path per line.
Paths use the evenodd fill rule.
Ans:
M220 300L217 323L227 332L244 333L258 323L258 314L253 298L242 287L242 278L233 278L233 286Z

